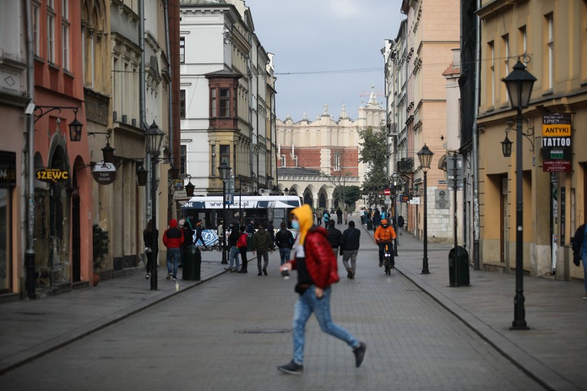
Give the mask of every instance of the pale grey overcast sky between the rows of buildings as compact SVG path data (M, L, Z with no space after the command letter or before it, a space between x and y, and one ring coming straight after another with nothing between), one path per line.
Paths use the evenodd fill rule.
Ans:
M276 112L294 121L322 114L338 120L342 102L353 120L371 85L382 94L385 39L395 39L401 0L246 0L255 32L275 54ZM354 72L337 72L355 70ZM361 96L361 95L367 96ZM380 103L384 97L378 98Z

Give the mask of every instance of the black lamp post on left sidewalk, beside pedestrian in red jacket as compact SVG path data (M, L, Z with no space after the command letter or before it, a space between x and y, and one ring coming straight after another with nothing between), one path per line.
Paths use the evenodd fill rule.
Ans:
M151 155L151 220L152 220L152 238L151 242L155 244L159 239L157 237L157 181L156 181L156 170L157 158L161 153L161 145L163 144L163 138L165 133L159 129L155 121L151 124L149 129L145 131L145 138L147 139L147 153ZM157 255L153 255L153 262L151 263L151 290L157 290Z

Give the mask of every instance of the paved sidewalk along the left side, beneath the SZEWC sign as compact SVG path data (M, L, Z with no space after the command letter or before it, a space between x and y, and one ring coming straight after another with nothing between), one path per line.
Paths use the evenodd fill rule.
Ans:
M225 273L221 260L222 253L203 251L200 281L178 279L178 291L159 266L158 290L151 290L141 268L94 288L0 304L0 374Z

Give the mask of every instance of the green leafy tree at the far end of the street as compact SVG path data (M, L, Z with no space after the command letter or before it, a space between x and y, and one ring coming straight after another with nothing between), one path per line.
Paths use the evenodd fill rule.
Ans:
M362 194L369 195L371 202L378 204L379 192L387 187L387 140L384 127L373 130L367 127L358 131L359 136L364 140L360 142L361 147L359 162L367 165L367 173L363 181Z

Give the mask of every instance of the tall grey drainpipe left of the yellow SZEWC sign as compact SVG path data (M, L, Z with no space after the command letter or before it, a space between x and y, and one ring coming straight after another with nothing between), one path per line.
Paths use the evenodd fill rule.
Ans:
M27 25L27 90L28 98L30 99L29 105L33 105L34 98L34 46L32 38L32 9L31 2L25 1L25 12L26 12L26 25ZM27 218L26 218L26 244L27 248L25 251L25 275L26 275L26 291L29 299L35 299L37 294L34 291L34 239L33 239L33 228L34 228L34 118L33 110L27 108L26 110L26 129L25 133L28 132L28 147L25 149L28 151L28 178L26 186L27 189ZM29 114L30 113L30 114ZM26 175L25 175L26 177Z

